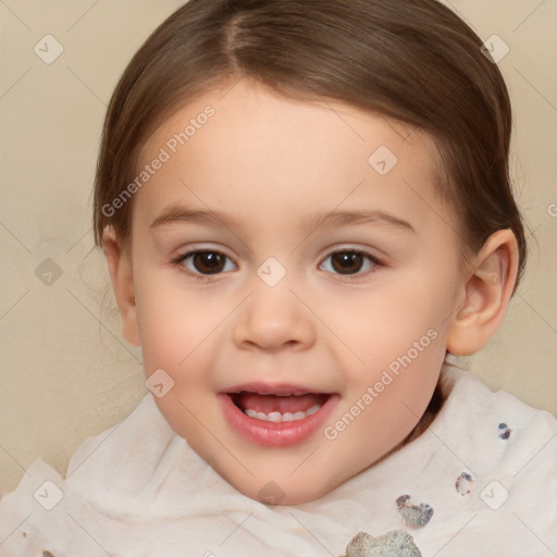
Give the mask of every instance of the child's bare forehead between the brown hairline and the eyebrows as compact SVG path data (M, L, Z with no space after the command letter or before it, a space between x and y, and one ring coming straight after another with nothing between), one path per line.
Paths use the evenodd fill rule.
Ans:
M205 200L242 218L373 202L420 221L440 202L435 152L426 134L398 122L240 79L184 106L149 138L138 171L165 162L141 188L139 210Z

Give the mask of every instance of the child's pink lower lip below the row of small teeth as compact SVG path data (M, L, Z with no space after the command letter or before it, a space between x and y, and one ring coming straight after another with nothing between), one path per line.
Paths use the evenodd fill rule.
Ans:
M306 441L331 416L339 400L338 395L331 395L326 403L311 416L292 422L265 422L245 414L232 398L221 393L224 417L228 423L247 441L267 447L289 447Z

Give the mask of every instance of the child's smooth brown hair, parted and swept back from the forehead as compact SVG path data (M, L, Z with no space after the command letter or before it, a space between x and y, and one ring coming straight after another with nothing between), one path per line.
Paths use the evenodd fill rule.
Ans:
M152 132L212 85L246 76L301 99L333 99L428 132L437 190L469 252L511 228L527 244L508 172L510 102L481 39L436 0L189 0L148 38L111 99L98 160L95 240L125 242L133 203L107 215ZM133 201L133 200L132 200Z

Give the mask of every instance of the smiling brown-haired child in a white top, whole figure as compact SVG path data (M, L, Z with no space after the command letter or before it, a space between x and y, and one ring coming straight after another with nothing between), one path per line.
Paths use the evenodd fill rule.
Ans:
M0 555L555 555L556 420L455 366L525 261L493 62L434 0L164 22L95 190L150 393L29 468Z

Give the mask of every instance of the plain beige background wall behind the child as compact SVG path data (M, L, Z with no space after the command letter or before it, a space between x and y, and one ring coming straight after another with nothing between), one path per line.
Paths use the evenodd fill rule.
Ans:
M499 66L516 115L512 172L533 232L507 320L469 363L492 388L557 414L557 2L447 3L482 39L497 34L510 47ZM63 473L85 437L147 393L104 261L91 251L90 191L116 79L180 4L0 0L0 493L39 456ZM64 49L51 64L34 52L47 34Z

